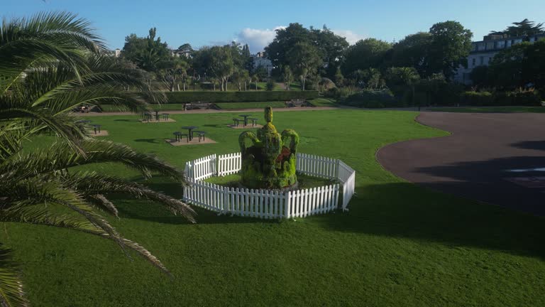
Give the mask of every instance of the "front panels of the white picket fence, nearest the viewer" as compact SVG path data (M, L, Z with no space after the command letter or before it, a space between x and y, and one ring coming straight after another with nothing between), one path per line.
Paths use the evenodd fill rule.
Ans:
M282 192L228 188L189 180L189 185L184 187L183 200L221 214L264 219L307 217L337 208L338 184Z

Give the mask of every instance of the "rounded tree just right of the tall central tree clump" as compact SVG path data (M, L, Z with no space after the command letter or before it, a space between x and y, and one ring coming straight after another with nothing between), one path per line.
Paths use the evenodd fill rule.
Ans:
M351 45L346 51L343 74L350 75L356 70L379 68L392 44L375 38L366 38Z

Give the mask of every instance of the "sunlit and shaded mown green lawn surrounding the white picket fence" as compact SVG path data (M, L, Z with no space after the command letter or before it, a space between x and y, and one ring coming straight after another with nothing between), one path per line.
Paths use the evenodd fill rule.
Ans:
M256 112L255 116L260 117ZM80 232L6 222L1 242L21 262L34 306L545 306L545 221L407 183L375 160L395 141L445 136L414 112L278 112L299 151L341 158L356 170L349 212L269 221L198 210L189 225L160 205L114 200L121 234L143 244L172 278L114 242ZM93 117L110 139L182 168L185 161L238 151L232 114L175 114L174 123ZM217 144L170 146L194 124ZM342 124L342 126L341 126ZM27 144L49 144L40 137ZM417 157L416 157L417 158ZM120 166L100 170L138 178ZM178 198L165 178L150 187Z

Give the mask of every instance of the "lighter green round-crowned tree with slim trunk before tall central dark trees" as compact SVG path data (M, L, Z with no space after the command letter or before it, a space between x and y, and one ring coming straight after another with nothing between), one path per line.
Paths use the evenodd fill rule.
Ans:
M297 43L288 50L290 67L301 78L301 90L305 90L304 84L309 75L316 73L322 64L318 50L308 43Z

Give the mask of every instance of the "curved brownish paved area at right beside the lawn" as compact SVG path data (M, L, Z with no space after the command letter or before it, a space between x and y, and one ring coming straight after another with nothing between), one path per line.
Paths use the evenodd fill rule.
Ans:
M397 176L446 193L545 215L545 114L422 112L451 136L380 149Z

